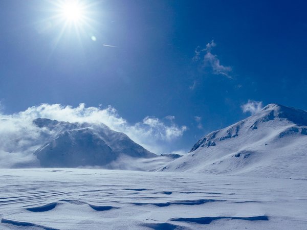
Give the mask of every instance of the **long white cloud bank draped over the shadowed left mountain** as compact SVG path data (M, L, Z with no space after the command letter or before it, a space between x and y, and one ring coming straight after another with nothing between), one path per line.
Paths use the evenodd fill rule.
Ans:
M174 122L167 125L155 117L146 117L141 122L129 124L112 106L85 107L82 103L74 108L60 104L41 104L11 115L0 113L0 151L23 151L29 143L36 143L36 137L40 134L40 129L32 124L32 120L36 118L103 123L115 131L127 134L133 141L155 153L165 153L164 148L181 137L187 129ZM168 119L172 121L174 117L168 116ZM36 144L39 145L38 140Z

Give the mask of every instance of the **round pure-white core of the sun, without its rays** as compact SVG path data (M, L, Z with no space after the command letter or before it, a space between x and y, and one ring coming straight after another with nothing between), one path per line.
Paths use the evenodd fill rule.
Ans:
M68 1L61 5L62 17L68 22L79 23L84 19L84 7L78 1Z

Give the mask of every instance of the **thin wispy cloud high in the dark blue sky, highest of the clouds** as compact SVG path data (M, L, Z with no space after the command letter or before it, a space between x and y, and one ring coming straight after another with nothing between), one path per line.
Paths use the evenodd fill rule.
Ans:
M202 60L203 67L210 66L213 74L223 75L227 78L232 78L230 76L230 73L232 72L232 68L230 66L222 65L217 55L212 54L211 51L214 47L216 47L216 43L213 40L206 45L205 49L201 49L201 47L197 47L195 49L195 55L193 57L193 61ZM204 56L202 57L202 55Z

